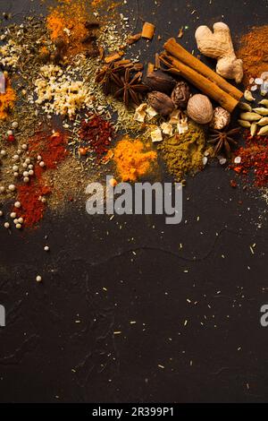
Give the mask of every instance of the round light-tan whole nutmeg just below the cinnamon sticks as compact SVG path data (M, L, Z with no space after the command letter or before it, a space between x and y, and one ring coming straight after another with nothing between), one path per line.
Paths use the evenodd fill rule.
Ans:
M199 125L210 123L214 117L214 108L209 98L197 94L188 100L188 116Z

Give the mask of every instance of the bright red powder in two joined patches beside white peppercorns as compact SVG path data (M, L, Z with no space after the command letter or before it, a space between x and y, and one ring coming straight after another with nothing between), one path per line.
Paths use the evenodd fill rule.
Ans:
M29 184L17 187L21 208L14 211L24 219L25 227L34 227L43 218L46 210L44 197L52 192L51 187L44 182L43 174L46 169L56 169L68 156L66 145L67 139L63 133L38 133L29 141L30 156L36 159L40 155L46 167L41 168L37 163L34 167L35 176L30 179Z

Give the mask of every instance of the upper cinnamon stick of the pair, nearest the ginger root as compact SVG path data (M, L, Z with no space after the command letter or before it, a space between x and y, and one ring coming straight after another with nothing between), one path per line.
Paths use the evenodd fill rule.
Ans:
M214 82L219 88L229 93L231 97L238 100L242 98L243 92L225 81L222 76L215 73L210 67L198 60L197 57L192 56L185 48L181 47L175 39L168 39L164 44L164 49L175 58L178 58L183 64L188 65L211 82Z

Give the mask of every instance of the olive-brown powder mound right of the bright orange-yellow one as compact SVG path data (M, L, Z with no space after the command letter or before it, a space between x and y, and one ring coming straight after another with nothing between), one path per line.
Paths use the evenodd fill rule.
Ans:
M158 150L161 150L169 172L180 182L184 176L194 176L204 168L205 131L190 123L188 132L164 140Z

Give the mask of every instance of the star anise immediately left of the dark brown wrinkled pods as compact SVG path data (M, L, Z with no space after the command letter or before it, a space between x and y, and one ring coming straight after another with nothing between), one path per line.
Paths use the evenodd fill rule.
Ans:
M119 89L115 92L115 98L123 97L123 101L126 107L129 107L130 101L134 104L140 104L139 94L146 92L147 86L140 83L142 73L138 72L134 76L131 76L130 69L126 69L124 76L118 77L116 75L116 84Z

